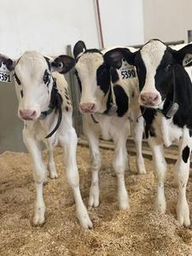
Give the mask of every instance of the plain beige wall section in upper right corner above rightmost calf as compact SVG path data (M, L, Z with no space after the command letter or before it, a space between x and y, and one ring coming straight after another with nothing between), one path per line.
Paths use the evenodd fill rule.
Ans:
M144 39L187 41L192 29L191 0L143 0Z

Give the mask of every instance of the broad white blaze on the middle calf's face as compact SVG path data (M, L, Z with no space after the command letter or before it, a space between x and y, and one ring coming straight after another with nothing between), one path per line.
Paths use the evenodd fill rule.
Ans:
M99 53L85 53L81 55L76 64L79 79L81 81L81 104L95 104L94 112L102 108L103 91L97 85L96 71L103 63L103 57Z

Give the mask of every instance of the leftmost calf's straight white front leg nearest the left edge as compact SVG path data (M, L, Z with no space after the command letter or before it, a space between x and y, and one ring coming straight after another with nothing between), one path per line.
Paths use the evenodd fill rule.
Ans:
M35 182L36 189L36 200L35 200L35 209L34 209L34 225L44 224L44 196L43 196L43 185L46 178L46 167L42 160L41 148L37 140L27 132L27 129L23 130L23 141L26 145L26 148L32 156L33 163L33 178Z

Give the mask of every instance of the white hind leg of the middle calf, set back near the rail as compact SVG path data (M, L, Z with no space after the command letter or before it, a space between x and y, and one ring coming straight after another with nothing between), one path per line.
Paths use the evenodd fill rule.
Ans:
M142 154L142 141L143 141L143 117L141 116L137 119L135 117L133 121L133 136L136 144L136 154L137 154L137 172L139 174L146 173L145 164Z

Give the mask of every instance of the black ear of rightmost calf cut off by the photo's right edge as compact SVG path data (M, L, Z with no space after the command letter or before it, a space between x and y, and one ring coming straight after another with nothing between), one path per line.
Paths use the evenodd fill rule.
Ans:
M192 66L192 44L187 44L182 49L172 51L174 58L183 67Z

